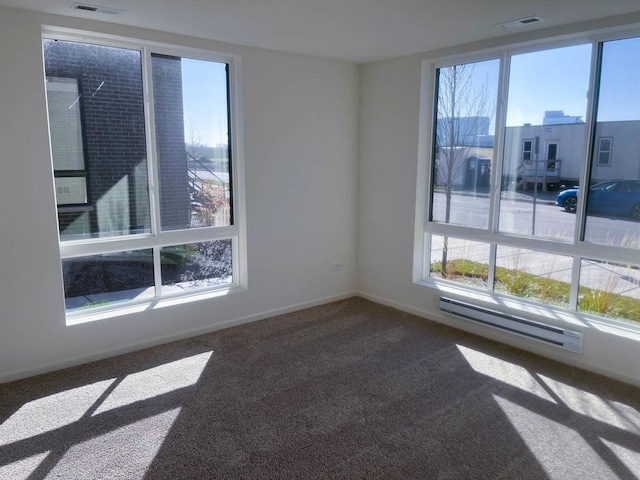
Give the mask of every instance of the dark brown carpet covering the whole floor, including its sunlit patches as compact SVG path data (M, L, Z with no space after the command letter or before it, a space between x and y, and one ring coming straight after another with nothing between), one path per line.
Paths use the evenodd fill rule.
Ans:
M1 479L639 477L639 389L358 298L0 385Z

